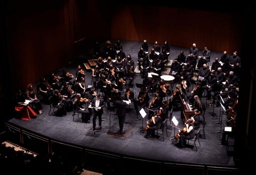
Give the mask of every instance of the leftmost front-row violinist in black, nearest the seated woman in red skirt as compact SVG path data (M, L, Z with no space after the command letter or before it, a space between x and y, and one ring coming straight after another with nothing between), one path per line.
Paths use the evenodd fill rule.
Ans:
M54 94L52 96L52 103L55 107L58 108L58 110L55 112L55 115L56 116L63 116L63 115L66 115L67 112L64 108L64 97L61 95L61 93L59 92L58 89L55 89L54 90Z

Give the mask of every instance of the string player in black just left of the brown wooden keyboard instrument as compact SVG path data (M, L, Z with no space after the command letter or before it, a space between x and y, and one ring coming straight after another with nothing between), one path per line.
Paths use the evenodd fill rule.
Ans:
M185 98L185 95L182 92L181 85L177 84L175 91L173 92L171 98L169 99L169 106L168 106L169 110L171 110L173 108L173 106L175 108L178 108L179 104L183 103L182 101L180 101L179 96L181 96L182 99Z

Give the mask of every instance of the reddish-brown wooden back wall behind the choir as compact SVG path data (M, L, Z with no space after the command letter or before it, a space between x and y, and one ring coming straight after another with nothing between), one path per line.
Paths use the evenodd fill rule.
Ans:
M241 51L242 18L220 12L124 6L112 18L112 38L155 42L229 53Z

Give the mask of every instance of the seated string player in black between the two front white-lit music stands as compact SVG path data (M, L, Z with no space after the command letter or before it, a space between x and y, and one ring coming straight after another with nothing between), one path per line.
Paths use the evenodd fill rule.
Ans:
M147 130L147 133L144 136L145 138L150 138L155 136L155 130L159 129L162 124L162 114L163 114L163 109L159 109L157 112L155 112L151 120L148 121L148 124L145 128Z

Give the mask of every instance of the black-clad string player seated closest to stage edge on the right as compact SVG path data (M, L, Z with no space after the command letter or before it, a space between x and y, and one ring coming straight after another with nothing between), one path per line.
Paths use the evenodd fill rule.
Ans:
M182 130L185 130L183 134L179 135L179 145L178 148L184 148L186 140L192 139L195 136L195 129L193 127L193 119L189 118ZM178 134L177 134L178 135Z

